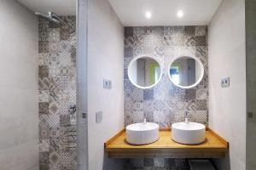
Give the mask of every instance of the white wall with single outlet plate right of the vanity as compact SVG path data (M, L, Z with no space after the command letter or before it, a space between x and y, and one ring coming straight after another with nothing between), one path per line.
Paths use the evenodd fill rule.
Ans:
M221 88L230 77L230 88ZM230 142L222 169L246 167L245 2L224 0L209 26L209 127Z

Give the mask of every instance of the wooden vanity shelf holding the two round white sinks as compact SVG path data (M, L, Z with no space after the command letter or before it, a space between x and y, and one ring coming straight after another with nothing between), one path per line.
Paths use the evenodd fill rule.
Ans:
M229 143L210 128L202 144L178 144L172 141L170 129L160 129L160 139L152 144L128 144L125 138L123 129L104 144L108 157L221 158L229 149Z

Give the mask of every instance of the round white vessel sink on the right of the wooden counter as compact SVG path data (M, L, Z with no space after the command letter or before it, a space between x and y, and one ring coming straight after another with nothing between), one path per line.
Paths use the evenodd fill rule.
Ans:
M172 140L180 144L200 144L206 139L206 126L197 122L172 124Z

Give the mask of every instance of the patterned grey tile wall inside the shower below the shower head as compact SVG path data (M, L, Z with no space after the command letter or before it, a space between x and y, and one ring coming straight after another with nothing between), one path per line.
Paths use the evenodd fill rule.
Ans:
M75 27L75 16L61 18ZM75 30L43 18L38 20L40 169L75 170Z

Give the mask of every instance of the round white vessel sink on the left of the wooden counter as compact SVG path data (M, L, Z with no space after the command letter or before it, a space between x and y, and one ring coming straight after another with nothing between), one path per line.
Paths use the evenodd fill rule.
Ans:
M126 141L130 144L150 144L157 139L159 139L158 124L142 122L126 127Z

